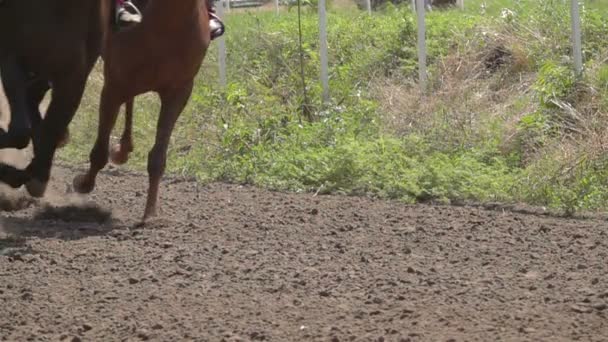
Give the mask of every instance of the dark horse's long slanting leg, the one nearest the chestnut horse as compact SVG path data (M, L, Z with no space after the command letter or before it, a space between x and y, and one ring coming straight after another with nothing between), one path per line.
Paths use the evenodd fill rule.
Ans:
M55 151L78 109L87 81L84 67L63 76L53 82L53 98L33 134L34 158L26 169L31 175L26 188L34 197L41 197L46 191Z

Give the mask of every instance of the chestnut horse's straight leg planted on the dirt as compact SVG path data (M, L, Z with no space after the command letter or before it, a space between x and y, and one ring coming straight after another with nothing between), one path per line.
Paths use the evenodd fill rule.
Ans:
M165 172L169 140L191 93L192 81L183 87L160 92L161 110L156 127L156 141L148 154L149 188L143 222L157 214L158 187Z

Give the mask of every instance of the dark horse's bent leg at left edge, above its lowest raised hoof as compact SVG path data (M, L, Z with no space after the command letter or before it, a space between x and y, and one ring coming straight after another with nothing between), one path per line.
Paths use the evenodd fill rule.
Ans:
M0 133L0 148L26 148L31 134L26 104L27 74L15 57L8 57L0 63L0 74L11 109L8 131Z

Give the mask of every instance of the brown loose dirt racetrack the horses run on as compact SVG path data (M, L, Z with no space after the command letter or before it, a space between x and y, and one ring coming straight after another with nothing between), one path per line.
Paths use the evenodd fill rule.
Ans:
M146 182L2 213L0 340L608 340L602 220Z

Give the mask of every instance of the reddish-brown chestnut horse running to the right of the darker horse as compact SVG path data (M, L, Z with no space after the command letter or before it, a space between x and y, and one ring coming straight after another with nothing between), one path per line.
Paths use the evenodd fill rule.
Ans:
M160 96L161 110L156 141L148 154L149 189L143 221L156 215L171 133L190 98L211 40L207 5L206 0L150 0L140 25L108 35L97 140L89 170L74 179L76 191L88 193L95 188L96 176L108 162L110 134L120 105L154 91ZM131 119L127 115L127 128ZM125 131L113 160L126 162L132 148L131 134Z

